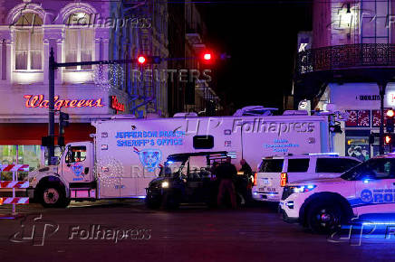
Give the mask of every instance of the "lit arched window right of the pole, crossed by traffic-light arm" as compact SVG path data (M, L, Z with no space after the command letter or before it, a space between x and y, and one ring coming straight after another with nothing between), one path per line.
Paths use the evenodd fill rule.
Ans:
M92 61L93 29L89 28L90 15L73 13L66 21L64 37L65 61ZM68 67L68 70L92 70L92 66Z

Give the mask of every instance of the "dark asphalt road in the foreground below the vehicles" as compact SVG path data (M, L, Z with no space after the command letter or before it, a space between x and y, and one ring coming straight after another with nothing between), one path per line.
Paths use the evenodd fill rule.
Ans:
M390 261L395 254L395 236L314 235L268 205L150 211L138 201L100 201L18 211L28 216L0 220L0 261Z

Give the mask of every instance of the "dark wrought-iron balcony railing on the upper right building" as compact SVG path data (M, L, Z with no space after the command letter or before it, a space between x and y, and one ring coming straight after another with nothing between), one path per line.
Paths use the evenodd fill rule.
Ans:
M296 74L377 67L395 68L395 44L347 44L301 51L297 56Z

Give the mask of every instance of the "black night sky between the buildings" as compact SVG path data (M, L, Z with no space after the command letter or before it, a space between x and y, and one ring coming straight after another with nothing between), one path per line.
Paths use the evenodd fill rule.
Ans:
M284 93L292 89L297 33L312 30L312 2L198 4L207 22L207 46L232 56L214 68L226 106L283 108Z

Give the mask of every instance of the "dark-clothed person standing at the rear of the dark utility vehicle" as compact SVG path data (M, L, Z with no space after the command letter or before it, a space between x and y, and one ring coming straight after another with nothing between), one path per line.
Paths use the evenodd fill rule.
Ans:
M229 193L232 208L236 209L236 191L233 178L237 175L236 166L231 163L230 156L226 157L226 162L220 164L217 168L217 179L219 180L219 188L217 195L217 205L221 205L222 199L226 192Z

